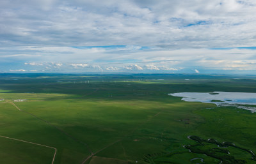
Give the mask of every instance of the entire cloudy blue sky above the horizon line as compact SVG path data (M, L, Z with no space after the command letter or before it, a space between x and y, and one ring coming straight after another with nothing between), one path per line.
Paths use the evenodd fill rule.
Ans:
M0 73L256 74L255 0L1 0Z

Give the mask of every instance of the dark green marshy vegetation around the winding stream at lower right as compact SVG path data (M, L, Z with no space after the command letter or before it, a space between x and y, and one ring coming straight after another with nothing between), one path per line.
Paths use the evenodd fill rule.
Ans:
M188 137L191 140L195 140L196 144L193 145L184 145L186 149L189 149L191 153L188 153L188 151L180 151L177 153L166 153L166 154L160 154L156 156L152 156L148 154L148 156L145 156L145 161L148 161L148 163L159 163L165 162L165 163L175 163L175 156L180 158L186 158L188 157L188 154L195 153L197 158L195 156L190 156L192 163L217 163L216 160L218 160L218 163L223 164L243 164L243 163L250 163L253 161L256 161L256 156L253 153L253 151L244 149L242 147L239 147L235 145L232 142L218 142L218 140L215 140L214 138L209 138L208 140L204 140L203 138L197 137L195 135ZM235 149L234 149L235 148ZM246 154L247 153L247 154ZM195 155L194 154L194 155ZM202 157L200 154L204 154L207 157ZM248 156L250 154L251 156L248 156L247 160L237 160L233 154L237 158L241 158L242 156ZM209 157L212 158L210 161ZM169 158L169 159L168 159ZM168 159L168 160L166 160ZM215 160L215 161L214 161ZM177 163L181 163L182 160L177 161ZM186 161L184 161L186 163Z

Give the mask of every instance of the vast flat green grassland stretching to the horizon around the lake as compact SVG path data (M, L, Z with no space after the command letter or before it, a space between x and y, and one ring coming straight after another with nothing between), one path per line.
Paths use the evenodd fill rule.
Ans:
M102 159L113 164L220 163L211 156L189 153L182 145L195 145L195 141L188 135L232 142L244 150L229 146L230 156L255 163L246 151L256 151L255 114L235 107L207 109L216 105L168 96L179 92L256 93L254 77L232 78L2 74L0 135L56 147L54 164L93 164ZM225 154L215 144L204 142L200 147L209 149ZM53 154L47 147L0 137L0 163L51 163ZM97 158L92 160L92 156Z

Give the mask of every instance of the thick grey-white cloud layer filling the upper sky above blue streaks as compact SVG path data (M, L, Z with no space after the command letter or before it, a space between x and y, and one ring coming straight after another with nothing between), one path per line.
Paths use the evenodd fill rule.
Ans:
M1 1L0 31L8 36L1 43L138 50L140 45L243 47L255 40L253 0L46 2Z

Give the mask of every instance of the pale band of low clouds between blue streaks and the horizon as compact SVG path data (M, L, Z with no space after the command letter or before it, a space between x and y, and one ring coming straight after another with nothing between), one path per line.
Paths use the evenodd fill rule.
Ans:
M19 48L19 47L18 47ZM20 58L15 60L8 57L1 58L1 68L4 71L19 70L23 67L24 70L52 70L52 71L88 71L102 72L129 70L143 70L150 72L166 72L166 71L184 71L190 70L188 73L193 73L195 69L204 68L203 70L256 70L256 57L254 48L224 48L224 49L209 49L209 48L189 48L189 49L164 49L164 48L148 48L146 50L138 50L134 52L120 50L119 47L105 48L101 47L102 52L95 52L89 56L83 54L77 48L67 48L67 52L61 50L56 52L56 49L47 47L36 50L35 47L20 48L19 50L33 51L36 54L42 54L47 51L45 57L34 56L28 58L33 62L24 62L20 65ZM7 49L7 50L6 50ZM12 49L12 48L10 48ZM10 49L0 47L0 54L11 53ZM42 50L43 49L43 50ZM88 48L85 48L88 50ZM90 49L90 48L89 48ZM60 53L60 54L58 54ZM72 53L72 58L69 55ZM57 55L56 55L57 54ZM61 57L60 57L61 56ZM65 62L64 59L67 59ZM22 60L24 60L22 58ZM61 60L61 62L60 62ZM4 62L5 61L5 62ZM7 61L7 62L6 62ZM8 61L12 62L8 65ZM70 62L74 62L71 63ZM79 63L77 61L80 61ZM83 63L82 63L83 62ZM97 63L97 64L96 64ZM26 67L24 67L26 66ZM47 68L46 68L47 67ZM188 69L187 69L188 68ZM193 71L191 71L191 68ZM195 72L195 71L194 71Z

